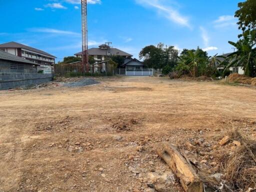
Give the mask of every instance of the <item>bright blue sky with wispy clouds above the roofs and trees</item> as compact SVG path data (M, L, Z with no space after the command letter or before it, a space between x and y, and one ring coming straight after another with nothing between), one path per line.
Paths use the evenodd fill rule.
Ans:
M146 45L231 52L243 0L88 0L89 47L112 42L138 57ZM17 41L61 60L81 50L80 0L0 0L0 43Z

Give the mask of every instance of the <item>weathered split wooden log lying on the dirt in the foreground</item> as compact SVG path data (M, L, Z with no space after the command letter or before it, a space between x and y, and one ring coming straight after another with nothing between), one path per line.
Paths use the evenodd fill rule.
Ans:
M190 162L178 152L174 145L164 142L157 152L176 174L186 192L203 192L203 184L200 178L192 168Z

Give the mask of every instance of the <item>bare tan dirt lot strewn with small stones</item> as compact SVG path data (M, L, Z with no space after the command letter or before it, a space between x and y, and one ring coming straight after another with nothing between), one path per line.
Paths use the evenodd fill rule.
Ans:
M256 133L256 88L98 80L0 91L0 191L182 191L156 154L163 141L201 139L210 152L233 125Z

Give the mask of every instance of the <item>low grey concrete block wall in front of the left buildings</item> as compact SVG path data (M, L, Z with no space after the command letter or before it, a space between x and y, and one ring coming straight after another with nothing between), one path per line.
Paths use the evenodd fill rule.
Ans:
M0 90L51 81L53 74L0 72Z

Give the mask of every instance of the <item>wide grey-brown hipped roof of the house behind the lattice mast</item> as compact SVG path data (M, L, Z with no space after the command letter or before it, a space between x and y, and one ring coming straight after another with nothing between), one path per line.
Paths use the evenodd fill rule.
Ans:
M118 48L110 48L109 50L101 48L89 48L89 55L106 55L106 51L109 51L111 55L120 55L120 56L132 56L131 54L124 52ZM82 52L77 52L75 55L82 55Z

